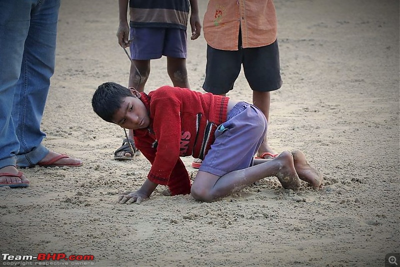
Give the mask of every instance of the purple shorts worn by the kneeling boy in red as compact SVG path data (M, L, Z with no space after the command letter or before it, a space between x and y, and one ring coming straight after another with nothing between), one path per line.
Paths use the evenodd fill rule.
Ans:
M266 129L265 116L257 107L238 102L227 114L226 121L215 130L215 141L199 170L223 176L252 166Z

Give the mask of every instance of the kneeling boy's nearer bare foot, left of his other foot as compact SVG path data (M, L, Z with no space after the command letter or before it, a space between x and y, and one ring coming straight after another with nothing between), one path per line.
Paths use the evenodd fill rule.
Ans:
M281 167L276 174L279 182L286 189L297 190L300 185L300 179L294 168L293 156L289 151L283 151L274 160L281 162Z

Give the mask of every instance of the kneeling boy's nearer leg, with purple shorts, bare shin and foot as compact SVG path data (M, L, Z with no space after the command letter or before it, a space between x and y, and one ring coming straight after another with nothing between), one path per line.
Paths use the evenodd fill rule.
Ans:
M261 111L247 103L237 103L215 131L215 140L194 179L193 197L212 201L267 176L278 177L285 188L298 188L300 181L289 152L250 167L265 132L266 120Z

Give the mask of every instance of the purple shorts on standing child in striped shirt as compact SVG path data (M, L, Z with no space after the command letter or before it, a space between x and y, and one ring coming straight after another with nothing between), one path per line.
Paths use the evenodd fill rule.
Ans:
M129 49L133 60L159 59L161 56L187 56L186 31L175 28L130 27Z

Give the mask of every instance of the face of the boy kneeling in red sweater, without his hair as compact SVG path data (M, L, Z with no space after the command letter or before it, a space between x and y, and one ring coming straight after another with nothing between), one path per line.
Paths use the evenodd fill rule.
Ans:
M125 97L121 101L121 107L115 112L113 123L125 129L147 128L150 124L150 117L146 106L140 101L140 94L132 91L133 96Z

